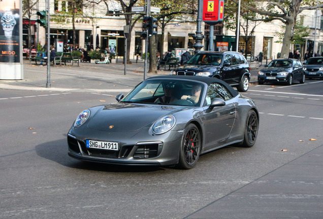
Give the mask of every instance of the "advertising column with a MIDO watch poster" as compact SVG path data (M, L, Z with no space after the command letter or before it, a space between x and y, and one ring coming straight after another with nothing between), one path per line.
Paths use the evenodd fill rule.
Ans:
M0 2L0 80L23 79L21 0Z

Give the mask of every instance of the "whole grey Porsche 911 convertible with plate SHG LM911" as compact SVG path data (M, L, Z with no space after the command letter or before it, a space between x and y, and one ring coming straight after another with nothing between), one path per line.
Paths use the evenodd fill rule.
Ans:
M69 156L190 169L201 154L256 141L256 105L216 78L157 76L116 99L80 113L68 133Z

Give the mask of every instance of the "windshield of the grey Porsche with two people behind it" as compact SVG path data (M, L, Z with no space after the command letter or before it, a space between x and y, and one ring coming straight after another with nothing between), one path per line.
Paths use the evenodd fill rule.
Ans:
M146 80L120 102L195 106L200 105L203 90L204 84L200 82L173 79Z

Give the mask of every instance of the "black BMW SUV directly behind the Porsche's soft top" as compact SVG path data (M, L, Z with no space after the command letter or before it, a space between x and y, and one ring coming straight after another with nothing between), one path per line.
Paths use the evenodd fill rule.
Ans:
M201 51L172 70L171 75L215 77L245 92L249 88L249 70L247 60L238 52Z

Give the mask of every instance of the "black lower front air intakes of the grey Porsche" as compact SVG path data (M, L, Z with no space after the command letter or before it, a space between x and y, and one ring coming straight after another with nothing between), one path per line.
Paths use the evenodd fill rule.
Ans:
M162 143L147 143L140 145L120 145L119 151L108 151L108 150L101 150L101 149L89 149L86 148L86 144L84 141L77 140L68 136L68 144L71 151L75 153L81 153L79 144L81 149L84 153L89 156L94 157L103 157L103 158L126 158L130 152L137 148L133 157L137 159L147 159L153 158L158 155L158 147L163 145Z

